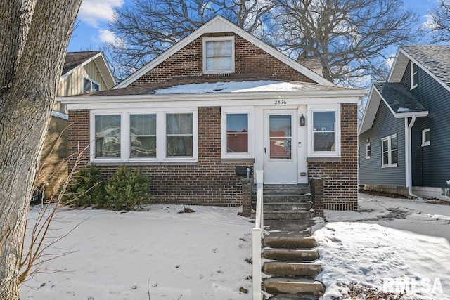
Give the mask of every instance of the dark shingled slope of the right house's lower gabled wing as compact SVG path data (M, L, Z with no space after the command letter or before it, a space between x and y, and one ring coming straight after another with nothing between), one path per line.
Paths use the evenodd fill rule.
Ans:
M401 83L374 84L394 113L424 112L425 108Z

